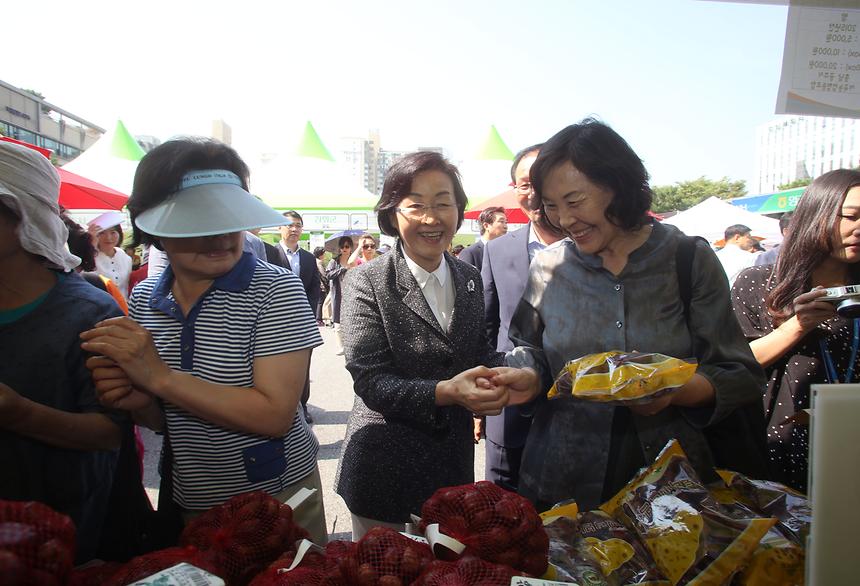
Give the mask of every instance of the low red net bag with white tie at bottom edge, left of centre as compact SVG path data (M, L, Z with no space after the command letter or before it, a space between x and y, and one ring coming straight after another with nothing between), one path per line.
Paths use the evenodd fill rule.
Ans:
M295 569L289 568L295 560L296 552L290 551L277 560L251 582L249 586L292 586L299 584L325 584L326 586L347 586L347 576L355 575L356 544L351 541L332 541L325 547L325 553L307 552Z

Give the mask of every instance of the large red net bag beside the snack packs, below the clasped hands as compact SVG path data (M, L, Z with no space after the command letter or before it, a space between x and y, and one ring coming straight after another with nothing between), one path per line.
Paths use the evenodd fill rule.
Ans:
M492 482L437 490L421 508L421 530L433 523L464 553L532 576L546 571L549 538L534 506Z

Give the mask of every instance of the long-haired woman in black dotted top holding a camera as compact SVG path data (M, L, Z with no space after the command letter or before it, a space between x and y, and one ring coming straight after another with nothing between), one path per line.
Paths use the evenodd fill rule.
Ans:
M806 491L809 429L786 423L809 408L815 383L856 382L860 323L822 301L826 287L860 283L860 171L825 173L806 188L775 265L746 269L735 315L769 375L768 452L776 480Z

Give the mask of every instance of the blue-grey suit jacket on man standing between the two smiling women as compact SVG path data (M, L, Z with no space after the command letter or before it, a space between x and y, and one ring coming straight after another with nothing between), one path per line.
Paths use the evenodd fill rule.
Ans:
M490 240L484 247L481 277L484 280L487 337L496 344L499 352L508 352L514 348L508 339L508 327L529 276L530 226L527 224L524 228ZM506 448L526 445L531 418L523 416L519 407L505 407L500 415L488 416L486 421L488 441Z

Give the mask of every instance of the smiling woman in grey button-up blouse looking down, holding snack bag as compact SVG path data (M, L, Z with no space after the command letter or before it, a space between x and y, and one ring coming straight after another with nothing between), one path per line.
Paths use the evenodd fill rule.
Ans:
M761 453L753 473L762 473L764 379L732 314L725 273L707 243L691 245L685 315L676 254L689 239L649 217L651 190L639 157L611 128L587 119L544 145L531 183L546 217L569 238L537 255L511 323L508 363L534 372L511 371L499 381L538 398L520 492L538 506L575 498L588 510L672 438L706 479L714 464L709 439L720 454ZM567 361L609 350L695 357L699 367L678 392L635 407L546 400ZM708 437L746 406L751 417L719 439Z

